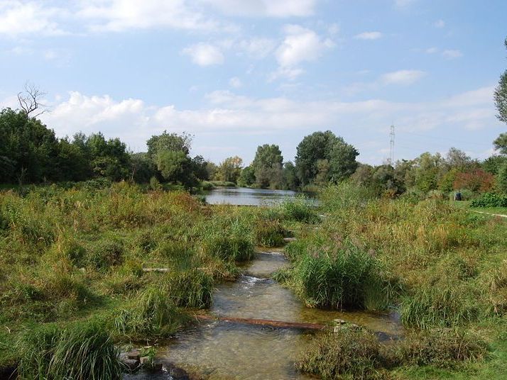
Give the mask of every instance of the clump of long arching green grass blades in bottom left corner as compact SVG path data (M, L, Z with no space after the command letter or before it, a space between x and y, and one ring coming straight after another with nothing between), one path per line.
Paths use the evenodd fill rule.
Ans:
M33 326L18 342L20 379L121 379L119 352L95 323Z

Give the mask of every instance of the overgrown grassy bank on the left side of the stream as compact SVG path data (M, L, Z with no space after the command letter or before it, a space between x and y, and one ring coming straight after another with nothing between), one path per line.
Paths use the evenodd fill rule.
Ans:
M236 262L282 242L280 218L290 219L126 183L1 192L0 368L59 378L67 364L86 367L75 362L85 344L111 363L84 378L115 379L109 342L157 342L187 325L217 281L239 274Z

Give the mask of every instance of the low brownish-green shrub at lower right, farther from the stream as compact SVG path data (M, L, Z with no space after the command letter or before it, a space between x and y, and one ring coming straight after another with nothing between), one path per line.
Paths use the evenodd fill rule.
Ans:
M398 350L406 364L452 368L483 359L488 346L478 335L462 329L433 329L409 333Z

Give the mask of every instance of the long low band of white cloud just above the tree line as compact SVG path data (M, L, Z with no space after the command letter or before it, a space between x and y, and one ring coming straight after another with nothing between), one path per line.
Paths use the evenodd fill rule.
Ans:
M53 111L41 118L60 136L79 130L84 133L102 130L108 137L121 136L131 147L143 150L144 143L140 142L164 129L186 130L196 135L219 135L224 131L248 135L347 125L368 134L383 133L383 127L393 120L403 125L404 130L414 132L497 128L499 123L491 102L493 92L494 86L488 86L434 102L381 99L344 102L296 101L286 97L255 99L231 91L213 91L205 98L207 106L179 109L173 104L150 106L140 99L115 100L107 95L85 96L72 91L67 100L55 104Z

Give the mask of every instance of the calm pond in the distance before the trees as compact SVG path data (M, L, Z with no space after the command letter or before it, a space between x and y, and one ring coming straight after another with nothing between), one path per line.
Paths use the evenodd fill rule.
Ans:
M270 206L283 199L296 196L295 191L247 189L245 187L225 187L205 192L209 204L232 204L238 206Z

